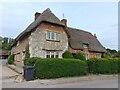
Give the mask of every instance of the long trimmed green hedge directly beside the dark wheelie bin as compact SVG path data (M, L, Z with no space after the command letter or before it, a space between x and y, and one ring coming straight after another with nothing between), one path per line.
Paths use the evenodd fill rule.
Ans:
M75 59L38 59L35 78L50 79L86 75L86 63Z

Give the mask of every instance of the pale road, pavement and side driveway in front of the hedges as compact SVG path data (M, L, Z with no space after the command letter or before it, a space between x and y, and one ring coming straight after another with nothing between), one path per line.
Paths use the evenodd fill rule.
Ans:
M118 88L118 77L114 75L92 75L16 83L15 78L18 74L9 69L5 61L3 61L2 71L3 88Z

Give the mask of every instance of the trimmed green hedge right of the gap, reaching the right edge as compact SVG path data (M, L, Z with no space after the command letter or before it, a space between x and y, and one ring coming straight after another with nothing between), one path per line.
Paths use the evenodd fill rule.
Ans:
M87 61L88 69L93 74L116 74L120 72L120 59L97 59L92 58Z

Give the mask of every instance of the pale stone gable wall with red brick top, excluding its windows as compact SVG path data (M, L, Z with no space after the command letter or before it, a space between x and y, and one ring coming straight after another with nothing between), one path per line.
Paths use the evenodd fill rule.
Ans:
M47 41L46 34L47 30L57 31L61 33L62 40L60 42ZM64 31L64 28L49 23L42 23L29 37L29 48L31 57L46 58L46 50L57 50L59 51L59 58L62 58L62 53L68 50L68 38Z

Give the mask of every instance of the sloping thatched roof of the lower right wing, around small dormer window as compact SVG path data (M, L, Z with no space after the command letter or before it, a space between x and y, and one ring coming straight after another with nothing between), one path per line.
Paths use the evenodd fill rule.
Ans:
M105 48L90 32L70 27L66 28L66 32L71 48L83 50L83 44L89 44L89 51L105 52Z

